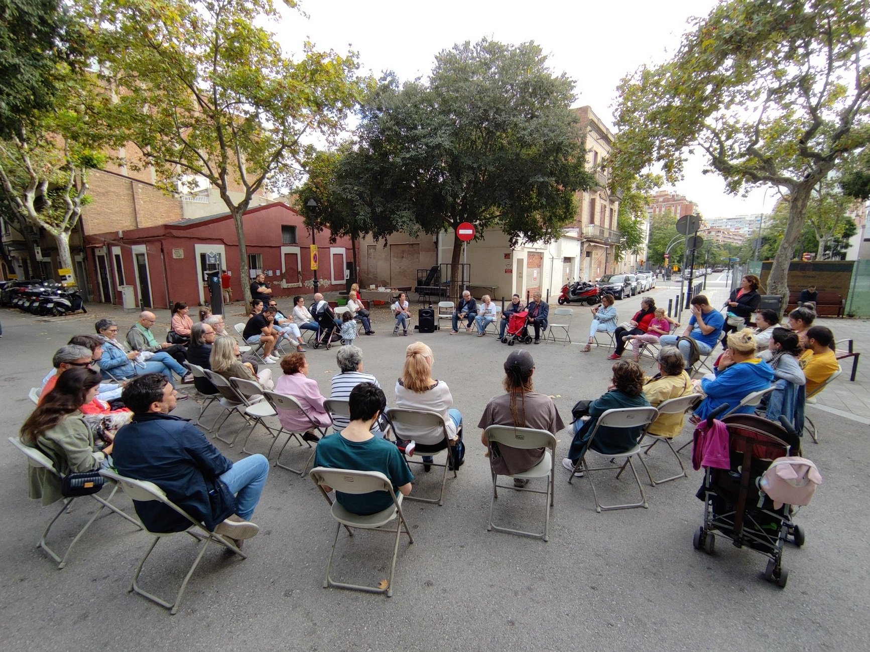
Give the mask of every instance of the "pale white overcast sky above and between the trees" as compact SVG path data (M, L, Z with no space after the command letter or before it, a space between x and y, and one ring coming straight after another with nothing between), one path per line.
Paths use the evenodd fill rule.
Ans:
M363 69L394 70L400 80L426 77L440 50L482 37L539 43L551 69L575 81L576 106L589 104L611 128L619 80L643 63L661 63L677 49L687 21L706 16L713 0L302 0L308 18L287 13L281 42L298 52L309 37L318 49L359 53ZM285 12L286 13L286 12ZM773 209L775 192L728 195L721 177L702 175L704 160L686 165L673 189L697 202L706 217Z

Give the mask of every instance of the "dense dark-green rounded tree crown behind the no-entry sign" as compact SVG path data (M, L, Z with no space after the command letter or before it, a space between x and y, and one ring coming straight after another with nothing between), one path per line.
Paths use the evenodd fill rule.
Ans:
M467 221L519 243L572 222L574 193L593 178L572 81L553 75L538 45L463 43L438 54L428 84L381 81L352 153L373 230L434 234Z

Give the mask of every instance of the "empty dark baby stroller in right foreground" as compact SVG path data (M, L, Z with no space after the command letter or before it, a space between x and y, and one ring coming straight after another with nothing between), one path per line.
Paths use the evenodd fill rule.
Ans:
M727 409L727 404L719 406L699 424L695 447L704 445L699 430L711 429L715 417ZM712 555L715 535L726 536L736 548L746 546L766 556L765 579L785 587L788 570L782 567L783 548L789 536L794 545L803 545L804 531L793 524L791 506L782 504L775 509L758 482L773 460L800 455L800 438L791 427L786 428L787 422L780 425L755 415L729 415L718 423L727 429L730 468L705 469L704 484L697 494L704 501L704 524L695 532L693 546Z

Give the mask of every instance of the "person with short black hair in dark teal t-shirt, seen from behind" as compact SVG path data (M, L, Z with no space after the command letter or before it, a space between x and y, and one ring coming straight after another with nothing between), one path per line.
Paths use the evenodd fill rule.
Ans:
M372 424L386 407L384 392L374 383L359 383L351 390L347 400L351 422L341 432L325 436L318 442L314 466L380 471L392 482L393 491L407 496L411 493L414 476L408 469L405 457L394 443L383 439L380 433L371 433ZM323 489L327 493L332 490L325 485ZM392 498L385 491L373 491L370 494L337 491L335 497L342 507L361 516L375 514L392 505Z

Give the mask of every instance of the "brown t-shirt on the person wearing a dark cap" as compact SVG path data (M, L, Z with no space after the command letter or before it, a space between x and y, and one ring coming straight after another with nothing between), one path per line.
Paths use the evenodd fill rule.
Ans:
M525 428L546 430L553 435L565 428L565 423L562 422L559 410L552 403L552 399L537 392L517 395L517 413L520 417L525 416L523 426ZM478 428L485 429L494 425L519 425L513 422L510 394L496 396L486 404ZM493 452L490 457L490 465L499 476L512 476L515 473L532 469L543 459L544 451L545 449L515 449L499 444L499 456L495 456Z

